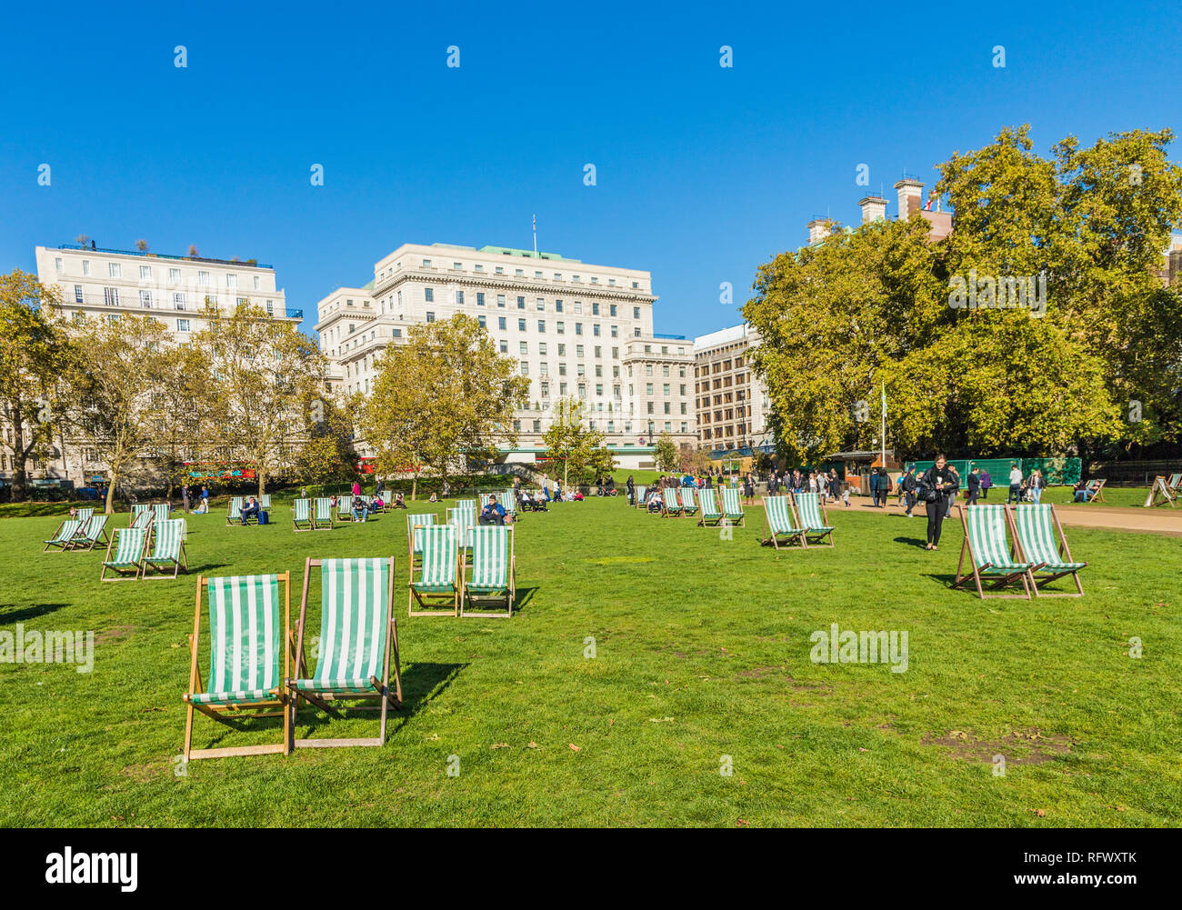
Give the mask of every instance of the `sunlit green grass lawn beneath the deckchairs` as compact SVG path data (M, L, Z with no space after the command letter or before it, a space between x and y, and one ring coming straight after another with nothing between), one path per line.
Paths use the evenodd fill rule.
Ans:
M407 619L402 514L303 534L286 508L269 527L190 516L193 574L123 584L98 581L98 552L43 555L57 519L0 521L0 631L96 635L89 674L0 663L0 825L1182 818L1182 540L1072 528L1086 597L982 603L949 590L959 521L928 553L920 519L836 509L836 548L775 552L748 514L730 539L622 499L527 515L512 620ZM175 774L196 573L291 570L294 619L306 557L391 553L408 703L387 746ZM832 623L907 631L907 671L812 663L810 636ZM196 724L197 747L278 739L278 721ZM301 710L297 734L312 729L365 736L376 721Z

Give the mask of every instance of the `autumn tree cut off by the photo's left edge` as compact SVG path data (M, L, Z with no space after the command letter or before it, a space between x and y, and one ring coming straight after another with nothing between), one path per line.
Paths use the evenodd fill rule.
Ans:
M57 288L34 275L0 275L0 409L12 429L0 444L12 454L14 502L26 496L28 459L44 459L52 447L54 390L67 351L53 319L58 304Z

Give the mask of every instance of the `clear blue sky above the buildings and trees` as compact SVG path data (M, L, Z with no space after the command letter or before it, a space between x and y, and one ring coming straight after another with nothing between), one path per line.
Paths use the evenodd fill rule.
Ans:
M656 330L701 334L810 217L858 219L859 163L894 215L903 170L1002 125L1046 154L1182 111L1167 2L137 8L6 7L0 271L79 233L195 243L273 264L307 317L402 242L527 248L537 213L539 248L650 269Z

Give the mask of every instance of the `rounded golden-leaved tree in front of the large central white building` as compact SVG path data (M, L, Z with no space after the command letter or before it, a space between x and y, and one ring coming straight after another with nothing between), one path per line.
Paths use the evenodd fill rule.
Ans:
M530 381L501 357L476 319L457 313L411 326L405 344L390 345L361 411L362 431L383 474L429 469L444 482L467 461L492 460L498 441L515 444L515 408Z

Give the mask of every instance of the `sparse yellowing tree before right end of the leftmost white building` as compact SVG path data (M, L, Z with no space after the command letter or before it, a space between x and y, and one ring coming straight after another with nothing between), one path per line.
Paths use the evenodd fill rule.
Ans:
M301 405L324 395L327 362L294 325L249 301L229 314L207 305L203 317L208 327L193 344L213 365L216 435L253 462L261 496L310 435L313 417Z

